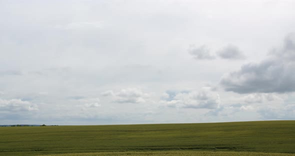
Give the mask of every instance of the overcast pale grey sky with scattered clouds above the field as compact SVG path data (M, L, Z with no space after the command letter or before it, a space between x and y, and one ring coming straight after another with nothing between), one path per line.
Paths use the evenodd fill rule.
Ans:
M0 124L295 119L294 0L0 0Z

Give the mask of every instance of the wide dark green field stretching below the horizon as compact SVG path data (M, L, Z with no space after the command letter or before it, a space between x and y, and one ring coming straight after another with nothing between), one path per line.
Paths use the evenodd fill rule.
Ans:
M0 155L160 150L295 153L295 120L0 127Z

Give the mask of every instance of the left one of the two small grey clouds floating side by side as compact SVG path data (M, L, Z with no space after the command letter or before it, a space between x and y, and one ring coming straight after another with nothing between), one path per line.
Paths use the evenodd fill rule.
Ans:
M194 59L215 59L215 56L210 54L206 45L201 45L199 47L193 45L188 49L188 53L191 54Z

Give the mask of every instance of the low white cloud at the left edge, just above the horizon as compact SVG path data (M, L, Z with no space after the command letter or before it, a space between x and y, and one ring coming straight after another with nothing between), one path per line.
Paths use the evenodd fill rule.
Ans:
M35 111L38 110L36 104L21 99L0 99L0 111Z

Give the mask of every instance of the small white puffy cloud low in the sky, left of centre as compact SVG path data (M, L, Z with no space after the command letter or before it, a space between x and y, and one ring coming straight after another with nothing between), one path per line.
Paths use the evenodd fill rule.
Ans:
M104 96L112 96L113 101L117 103L140 103L145 102L145 98L149 96L148 93L142 92L138 88L125 88L118 92L108 90L101 93Z

